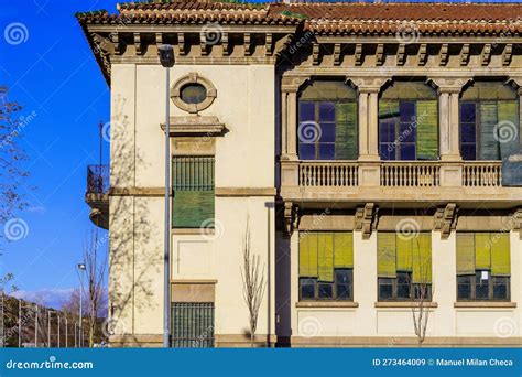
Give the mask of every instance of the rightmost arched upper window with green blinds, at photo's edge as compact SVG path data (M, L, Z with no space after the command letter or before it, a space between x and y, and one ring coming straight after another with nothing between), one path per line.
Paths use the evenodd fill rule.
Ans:
M464 160L500 160L519 149L519 100L502 83L477 82L460 98Z

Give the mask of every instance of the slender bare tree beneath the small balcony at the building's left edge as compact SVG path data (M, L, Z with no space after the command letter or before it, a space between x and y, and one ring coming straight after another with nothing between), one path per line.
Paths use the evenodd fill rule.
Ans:
M94 346L96 326L99 323L98 312L104 302L104 282L107 271L107 254L100 252L101 245L105 244L98 237L98 229L91 230L89 238L84 246L85 274L87 278L87 302L88 302L88 334L89 347Z

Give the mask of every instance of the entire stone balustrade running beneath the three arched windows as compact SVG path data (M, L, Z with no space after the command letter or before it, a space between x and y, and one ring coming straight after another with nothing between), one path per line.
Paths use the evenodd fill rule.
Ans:
M370 172L369 175L368 172ZM366 176L374 177L372 181L374 183L368 184ZM301 187L316 188L367 185L493 187L502 186L502 163L500 161L377 161L371 163L300 161L297 182Z

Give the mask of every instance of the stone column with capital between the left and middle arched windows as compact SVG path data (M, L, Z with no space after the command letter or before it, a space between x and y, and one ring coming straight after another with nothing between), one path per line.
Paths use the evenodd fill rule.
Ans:
M388 77L350 78L357 87L359 125L359 185L380 185L379 91Z

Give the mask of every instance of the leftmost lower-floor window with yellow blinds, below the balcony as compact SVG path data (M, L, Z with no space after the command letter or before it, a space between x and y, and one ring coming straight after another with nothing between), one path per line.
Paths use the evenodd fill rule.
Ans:
M300 235L300 300L354 300L351 233Z

